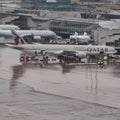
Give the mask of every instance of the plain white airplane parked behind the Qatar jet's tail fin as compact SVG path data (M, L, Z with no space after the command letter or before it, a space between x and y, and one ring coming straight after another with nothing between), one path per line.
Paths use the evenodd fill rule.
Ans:
M11 30L0 29L1 44L13 43ZM51 30L16 30L16 32L21 36L31 36L35 41L39 41L42 38L54 38L56 36L56 33Z

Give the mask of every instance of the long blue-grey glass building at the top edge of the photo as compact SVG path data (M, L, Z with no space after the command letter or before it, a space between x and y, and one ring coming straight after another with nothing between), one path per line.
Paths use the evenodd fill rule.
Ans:
M92 4L76 4L71 3L71 0L21 0L21 6L27 9L50 11L90 12L94 9Z

